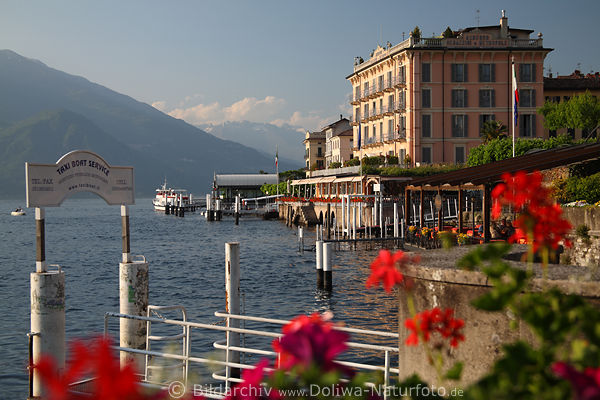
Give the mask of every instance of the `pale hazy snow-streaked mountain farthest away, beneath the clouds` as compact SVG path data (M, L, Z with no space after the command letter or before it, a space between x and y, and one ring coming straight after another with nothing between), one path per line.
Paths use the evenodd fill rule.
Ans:
M280 127L249 121L197 126L218 138L241 143L268 156L274 156L275 146L279 145L280 160L296 163L298 168L304 165L304 132L299 132L293 126Z

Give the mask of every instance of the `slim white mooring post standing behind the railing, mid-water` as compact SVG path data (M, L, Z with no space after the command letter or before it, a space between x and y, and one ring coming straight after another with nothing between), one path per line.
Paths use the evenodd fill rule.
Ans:
M225 295L227 302L225 312L229 314L240 314L240 244L237 242L225 243ZM237 319L228 319L228 327L239 328L240 321ZM227 332L227 345L240 346L240 334ZM239 363L240 353L237 351L227 352L227 362ZM229 368L231 374L228 376L240 376L239 368Z

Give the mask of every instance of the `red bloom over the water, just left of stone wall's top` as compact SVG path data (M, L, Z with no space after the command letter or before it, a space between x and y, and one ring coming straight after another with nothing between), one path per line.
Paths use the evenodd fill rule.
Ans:
M367 288L379 286L383 283L386 292L391 292L392 287L404 280L400 269L406 264L417 263L418 257L410 257L401 250L392 254L389 250L381 250L371 263L371 275L367 279Z

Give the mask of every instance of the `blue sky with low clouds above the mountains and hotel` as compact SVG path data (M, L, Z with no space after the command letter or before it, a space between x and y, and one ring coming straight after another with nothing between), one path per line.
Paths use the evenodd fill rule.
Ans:
M314 130L349 115L355 56L415 25L496 25L502 9L509 26L543 33L553 73L600 70L596 0L0 0L0 49L191 123Z

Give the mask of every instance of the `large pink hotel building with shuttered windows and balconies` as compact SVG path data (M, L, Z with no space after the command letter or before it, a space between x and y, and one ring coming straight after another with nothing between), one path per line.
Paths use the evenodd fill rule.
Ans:
M463 163L481 144L485 121L501 120L511 135L512 65L519 88L516 137L542 137L544 48L541 33L500 25L466 28L439 38L380 46L355 62L353 157L395 155L410 165ZM358 147L359 129L361 146Z

